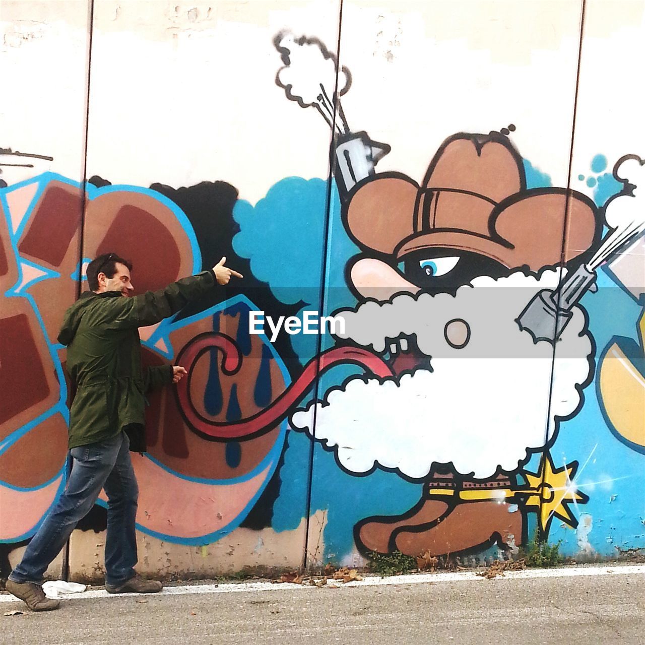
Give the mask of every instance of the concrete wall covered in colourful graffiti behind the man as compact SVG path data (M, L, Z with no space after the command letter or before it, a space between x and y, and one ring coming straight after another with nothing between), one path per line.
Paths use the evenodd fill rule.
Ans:
M204 332L241 359L226 375L213 346L183 398L150 401L141 571L645 548L645 2L5 0L0 19L3 575L64 487L56 335L106 251L137 290L223 255L244 273L141 329L146 364ZM598 288L553 342L551 292L568 302L581 264ZM256 310L345 328L272 342ZM50 575L100 579L105 526L99 500Z

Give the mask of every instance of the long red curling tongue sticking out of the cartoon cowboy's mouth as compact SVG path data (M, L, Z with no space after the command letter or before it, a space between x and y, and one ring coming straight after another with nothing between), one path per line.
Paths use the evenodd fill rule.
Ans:
M342 363L353 363L372 372L379 378L392 377L390 366L377 355L353 347L335 347L313 357L305 366L303 373L275 401L261 412L240 421L213 421L203 417L190 399L190 372L195 362L203 353L213 348L223 353L222 371L228 376L238 372L242 364L242 356L237 345L230 337L218 332L203 333L184 347L177 356L177 365L188 370L188 377L177 383L176 395L179 408L188 425L195 430L214 439L250 439L262 435L279 422L283 421L293 404L308 390L317 373L322 374L329 368Z

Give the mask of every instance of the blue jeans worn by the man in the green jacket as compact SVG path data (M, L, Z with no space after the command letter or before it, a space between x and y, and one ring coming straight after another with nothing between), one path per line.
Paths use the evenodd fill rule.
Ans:
M43 581L50 562L68 541L76 524L94 506L101 488L108 497L105 582L119 586L134 576L139 488L129 449L124 432L106 441L72 448L74 462L67 486L27 545L22 561L10 573L10 580L37 584Z

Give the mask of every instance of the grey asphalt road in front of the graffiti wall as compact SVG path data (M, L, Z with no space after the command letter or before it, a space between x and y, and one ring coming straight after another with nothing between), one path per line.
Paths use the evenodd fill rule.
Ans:
M3 614L21 608L0 604ZM76 598L0 616L0 642L641 645L645 574Z

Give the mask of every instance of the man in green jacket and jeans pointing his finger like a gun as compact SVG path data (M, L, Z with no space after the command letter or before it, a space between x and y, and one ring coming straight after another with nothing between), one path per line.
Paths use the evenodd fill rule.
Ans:
M137 328L174 315L215 283L224 285L231 276L242 277L224 266L225 261L223 257L210 271L132 298L128 298L134 290L129 261L106 253L88 264L90 291L67 310L58 336L58 341L68 346L67 368L77 388L70 410L72 472L63 494L6 582L7 591L24 600L31 610L58 607L58 600L45 597L43 575L76 524L94 506L101 489L108 497L106 590L161 591L161 582L144 580L134 572L139 490L129 451L144 450L145 393L177 383L186 370L157 366L142 373Z

